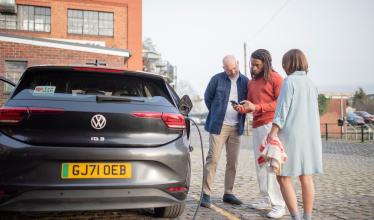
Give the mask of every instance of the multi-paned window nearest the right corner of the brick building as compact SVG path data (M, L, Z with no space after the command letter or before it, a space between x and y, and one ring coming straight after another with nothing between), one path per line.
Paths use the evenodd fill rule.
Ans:
M113 13L68 9L68 33L113 36Z

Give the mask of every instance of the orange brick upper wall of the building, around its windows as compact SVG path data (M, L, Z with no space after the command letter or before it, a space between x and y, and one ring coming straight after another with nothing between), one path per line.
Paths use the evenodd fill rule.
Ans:
M121 69L142 70L142 1L141 0L17 0L17 4L51 8L51 32L38 33L19 30L0 32L39 38L105 41L106 47L127 49L131 53ZM114 12L114 36L89 36L67 33L67 9ZM73 52L72 52L73 53ZM99 59L97 54L92 54ZM3 56L0 57L3 60ZM47 59L49 59L47 57ZM32 61L34 62L34 61ZM56 57L48 62L57 62ZM65 61L63 61L66 63ZM73 64L73 63L72 63Z

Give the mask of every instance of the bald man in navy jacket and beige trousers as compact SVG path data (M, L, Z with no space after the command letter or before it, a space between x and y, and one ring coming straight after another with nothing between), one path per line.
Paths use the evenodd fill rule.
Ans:
M214 75L206 88L204 99L209 114L205 130L210 133L209 152L206 158L203 198L201 206L211 206L210 195L218 161L226 145L226 173L223 201L240 205L242 202L233 195L238 164L240 136L243 134L245 114L238 114L230 101L240 102L247 98L248 78L239 72L234 56L223 58L222 73Z

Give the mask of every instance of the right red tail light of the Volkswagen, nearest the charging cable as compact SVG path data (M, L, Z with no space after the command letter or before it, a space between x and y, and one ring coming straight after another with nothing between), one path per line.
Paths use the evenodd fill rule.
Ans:
M162 113L162 112L134 112L132 115L140 118L160 118L164 121L168 128L184 129L186 122L183 115L176 113Z

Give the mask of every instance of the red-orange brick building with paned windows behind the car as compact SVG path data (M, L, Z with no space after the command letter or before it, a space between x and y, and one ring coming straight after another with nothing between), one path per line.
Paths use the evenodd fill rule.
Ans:
M141 0L1 0L0 75L17 81L48 64L142 70L141 10Z

